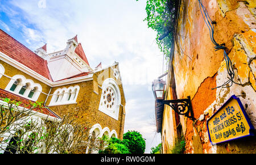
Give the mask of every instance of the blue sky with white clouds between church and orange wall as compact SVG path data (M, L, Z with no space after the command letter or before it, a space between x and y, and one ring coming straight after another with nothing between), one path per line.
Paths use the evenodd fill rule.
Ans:
M163 73L163 55L143 22L146 0L0 0L0 6L0 28L33 51L45 43L48 52L63 50L78 35L92 68L119 62L125 132L142 133L146 153L160 143L151 82Z

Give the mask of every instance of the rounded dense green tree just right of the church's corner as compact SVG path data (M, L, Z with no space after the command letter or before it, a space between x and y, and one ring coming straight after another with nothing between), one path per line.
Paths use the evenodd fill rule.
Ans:
M143 154L146 149L145 139L142 134L136 131L129 131L123 134L123 141L127 142L127 147L131 154Z

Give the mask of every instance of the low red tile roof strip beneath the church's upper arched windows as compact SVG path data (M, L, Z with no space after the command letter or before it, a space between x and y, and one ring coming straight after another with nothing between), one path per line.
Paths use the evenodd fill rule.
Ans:
M29 105L30 103L35 103L35 101L31 101L31 100L28 100L26 98L22 98L21 96L12 94L11 92L8 92L8 91L3 90L1 88L0 88L0 98L3 98L3 99L9 98L11 100L20 101L20 102L22 102L20 104L20 107L25 107L26 105ZM52 116L52 117L59 118L59 116L55 115L54 113L49 111L47 108L35 108L33 110L36 111L36 112L43 113L45 115L49 115L49 116Z

